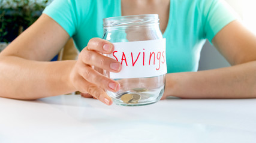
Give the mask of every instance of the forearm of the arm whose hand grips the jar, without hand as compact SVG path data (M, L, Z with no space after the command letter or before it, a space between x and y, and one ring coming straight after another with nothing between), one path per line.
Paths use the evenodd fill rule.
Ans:
M75 62L1 57L0 97L33 100L73 92L69 73Z

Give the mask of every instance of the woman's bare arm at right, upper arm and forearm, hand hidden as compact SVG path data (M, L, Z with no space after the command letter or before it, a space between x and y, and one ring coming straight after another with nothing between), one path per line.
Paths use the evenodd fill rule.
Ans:
M256 36L233 21L212 42L232 66L167 74L163 98L256 98Z

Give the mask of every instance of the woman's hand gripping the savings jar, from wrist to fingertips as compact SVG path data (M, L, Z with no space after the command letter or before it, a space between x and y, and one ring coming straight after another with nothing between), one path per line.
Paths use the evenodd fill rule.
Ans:
M120 85L95 69L100 68L116 73L121 70L121 63L102 55L111 54L113 49L112 43L100 38L92 38L88 42L88 46L80 52L79 58L70 74L71 83L77 91L91 94L107 105L111 105L112 100L104 89L117 92Z

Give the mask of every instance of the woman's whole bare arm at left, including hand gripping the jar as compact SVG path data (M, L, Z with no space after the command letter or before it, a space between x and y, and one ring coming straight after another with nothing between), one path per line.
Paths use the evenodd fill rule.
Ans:
M91 67L113 72L121 70L113 69L115 60L98 53L110 54L113 45L94 38L80 53L79 60L49 62L69 38L68 33L52 18L41 15L1 52L0 96L32 100L81 91L94 95L106 104L112 104L104 89L117 91L118 83ZM107 51L106 45L110 45ZM119 63L114 65L121 67Z

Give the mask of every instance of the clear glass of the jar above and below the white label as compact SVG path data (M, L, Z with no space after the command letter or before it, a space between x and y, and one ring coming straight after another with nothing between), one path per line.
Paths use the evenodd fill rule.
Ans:
M158 21L156 14L105 18L103 39L112 43L162 39ZM104 71L104 74L109 77L109 71ZM121 85L120 91L115 93L107 91L107 94L118 105L152 104L159 101L164 92L165 74L155 77L115 80ZM139 98L139 100L133 98Z

